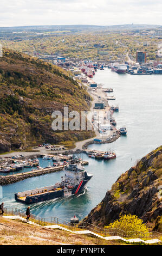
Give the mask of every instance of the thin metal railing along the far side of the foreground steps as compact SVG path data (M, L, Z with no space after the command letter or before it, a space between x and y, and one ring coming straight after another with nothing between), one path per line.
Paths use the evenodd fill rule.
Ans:
M19 215L19 216L26 216L26 212L24 210L18 209L18 208L4 208L4 214L5 215ZM76 229L91 229L96 233L100 233L103 236L112 236L112 235L118 235L122 237L139 237L142 239L148 239L156 237L160 240L162 240L162 233L159 233L158 231L150 231L146 233L142 233L141 231L125 231L121 230L119 228L100 228L97 227L94 224L88 223L88 222L79 222L79 223L70 223L68 221L62 220L58 217L45 217L41 218L39 216L36 216L34 214L30 214L30 218L38 224L43 225L46 227L46 225L49 224L60 224L63 226L66 226L69 229L76 230Z

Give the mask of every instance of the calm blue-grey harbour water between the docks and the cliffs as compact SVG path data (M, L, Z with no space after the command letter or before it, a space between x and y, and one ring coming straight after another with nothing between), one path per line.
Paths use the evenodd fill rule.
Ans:
M119 105L119 112L114 113L117 127L126 124L127 136L120 137L113 144L92 144L91 149L107 150L113 148L116 159L104 162L103 160L89 159L82 154L83 160L89 161L85 166L93 178L87 184L87 190L79 196L68 199L50 200L31 205L31 212L42 217L57 216L68 220L74 214L85 217L98 204L106 191L118 179L121 173L162 144L162 76L161 75L119 75L111 70L98 70L94 81L102 83L103 87L112 87L115 101L110 105ZM43 161L43 160L41 160ZM44 163L46 162L46 163ZM48 165L48 161L41 162ZM60 180L63 171L44 176L38 176L3 187L5 206L25 209L26 205L14 200L14 193L55 184Z

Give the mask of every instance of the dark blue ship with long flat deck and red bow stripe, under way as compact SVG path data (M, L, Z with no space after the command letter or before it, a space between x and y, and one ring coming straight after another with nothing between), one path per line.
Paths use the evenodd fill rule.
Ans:
M79 194L85 189L92 176L92 174L86 172L80 160L73 159L68 166L64 167L64 176L61 176L60 182L47 187L15 193L15 200L25 204L32 204Z

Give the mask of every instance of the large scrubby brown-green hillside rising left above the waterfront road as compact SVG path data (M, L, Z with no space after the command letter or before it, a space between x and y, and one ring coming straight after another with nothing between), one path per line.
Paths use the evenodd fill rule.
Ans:
M4 50L0 58L0 151L29 144L77 141L93 132L51 130L51 113L83 111L90 105L86 89L57 66L25 54ZM1 147L5 145L5 147Z

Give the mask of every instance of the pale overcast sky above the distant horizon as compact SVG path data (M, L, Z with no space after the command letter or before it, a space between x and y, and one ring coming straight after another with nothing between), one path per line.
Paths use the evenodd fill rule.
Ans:
M162 25L162 0L2 0L0 27Z

